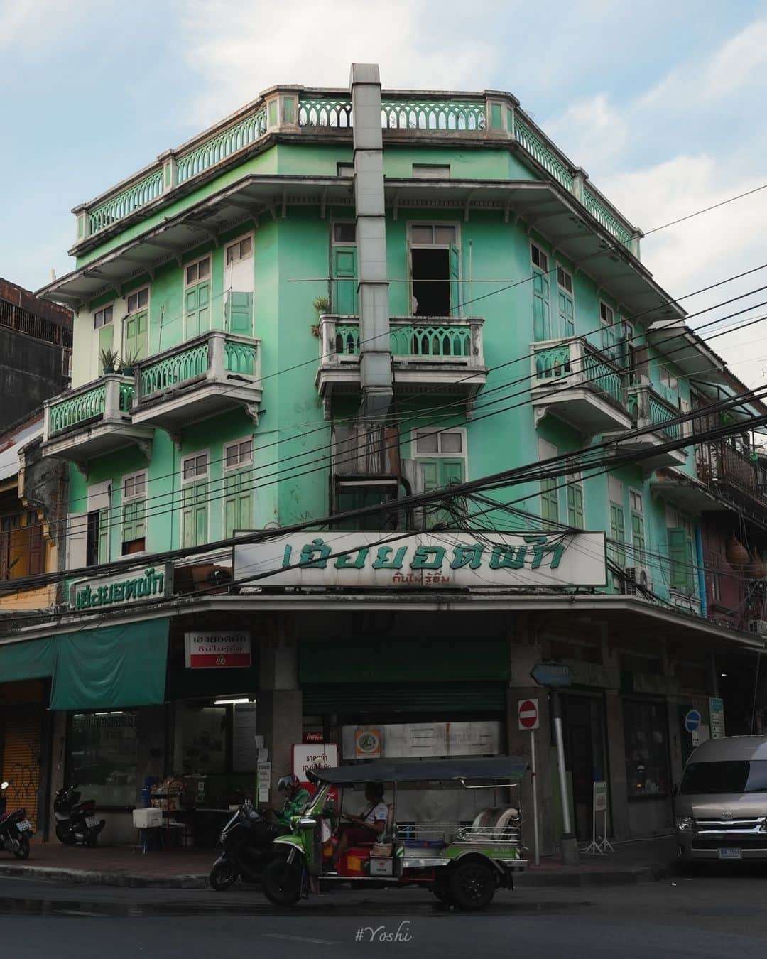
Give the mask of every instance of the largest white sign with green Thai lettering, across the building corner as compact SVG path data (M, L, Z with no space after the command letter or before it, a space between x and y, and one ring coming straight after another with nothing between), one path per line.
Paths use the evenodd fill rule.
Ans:
M234 548L253 585L345 588L604 586L604 533L297 533Z

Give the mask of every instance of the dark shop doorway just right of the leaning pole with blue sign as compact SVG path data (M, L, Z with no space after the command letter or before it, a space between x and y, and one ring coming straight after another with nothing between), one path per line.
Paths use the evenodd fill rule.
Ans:
M604 700L601 696L562 696L565 762L572 777L574 830L592 837L593 784L607 780Z

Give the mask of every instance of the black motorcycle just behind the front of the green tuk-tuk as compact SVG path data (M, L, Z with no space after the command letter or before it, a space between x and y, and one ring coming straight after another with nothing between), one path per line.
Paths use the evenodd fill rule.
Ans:
M273 809L267 812L274 814ZM213 864L208 881L222 892L242 877L245 882L258 882L271 857L271 842L279 833L267 814L253 808L246 799L221 830L221 855Z

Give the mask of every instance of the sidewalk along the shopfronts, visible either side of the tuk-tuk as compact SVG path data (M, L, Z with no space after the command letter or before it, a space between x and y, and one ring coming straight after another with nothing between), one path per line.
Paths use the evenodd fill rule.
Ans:
M83 849L60 843L33 843L26 862L0 857L2 877L35 878L49 882L129 886L155 889L205 889L216 861L216 850L150 850L105 846ZM530 855L530 861L532 856ZM545 856L516 879L520 888L536 886L627 885L668 876L676 860L674 836L662 836L616 846L608 855L582 855L578 866L563 866Z

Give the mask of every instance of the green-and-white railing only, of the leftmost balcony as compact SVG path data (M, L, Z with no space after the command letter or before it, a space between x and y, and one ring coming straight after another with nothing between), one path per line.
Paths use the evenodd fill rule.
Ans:
M43 441L99 421L130 420L133 381L116 373L45 402Z

